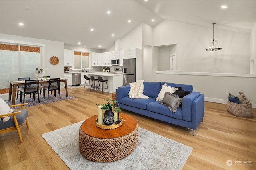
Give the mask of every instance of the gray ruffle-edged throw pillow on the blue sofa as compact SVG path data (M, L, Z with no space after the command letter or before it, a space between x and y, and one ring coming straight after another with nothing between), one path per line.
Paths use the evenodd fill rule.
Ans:
M168 107L170 111L174 113L177 111L181 102L182 102L182 98L180 98L178 95L171 94L170 92L166 92L160 104Z

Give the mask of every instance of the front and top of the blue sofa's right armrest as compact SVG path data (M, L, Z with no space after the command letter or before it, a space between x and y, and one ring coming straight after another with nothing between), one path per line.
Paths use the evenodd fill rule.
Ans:
M200 96L199 92L191 92L182 99L182 119L192 121L192 102Z

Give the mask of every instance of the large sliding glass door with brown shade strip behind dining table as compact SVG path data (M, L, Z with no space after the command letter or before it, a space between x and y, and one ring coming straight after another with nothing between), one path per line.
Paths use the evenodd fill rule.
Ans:
M41 51L41 47L0 43L0 89L9 88L9 81L18 77L35 79Z

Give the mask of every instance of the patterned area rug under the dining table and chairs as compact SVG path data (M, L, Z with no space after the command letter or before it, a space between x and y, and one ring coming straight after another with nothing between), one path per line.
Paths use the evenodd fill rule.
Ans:
M53 93L49 94L49 101L47 101L47 94L45 95L45 98L43 97L43 94L41 94L41 96L39 96L40 103L38 103L37 94L36 94L36 100L33 99L33 95L31 94L31 98L30 98L30 95L25 96L25 103L28 103L28 104L25 105L24 107L35 106L35 105L38 105L38 104L46 104L46 103L50 103L50 102L56 102L56 101L72 99L72 98L75 98L75 97L70 96L70 95L68 95L68 97L66 97L66 93L60 92L60 96L56 93L56 97L54 97ZM8 101L8 100L4 100L4 101L8 105L12 105L12 101ZM20 96L18 96L18 100L15 100L15 104L21 104ZM16 108L20 108L20 106L12 107L12 109L16 109Z

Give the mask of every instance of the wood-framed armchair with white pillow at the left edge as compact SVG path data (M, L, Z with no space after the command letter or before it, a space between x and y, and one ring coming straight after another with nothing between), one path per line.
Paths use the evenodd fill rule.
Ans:
M29 129L28 125L28 110L24 109L24 105L28 103L23 103L23 104L16 104L16 105L10 105L2 98L0 98L0 134L5 133L5 132L10 132L10 131L15 131L17 130L18 136L20 138L20 143L22 143L22 136L20 133L20 126L24 125L26 122L27 128ZM12 112L10 107L16 107L16 106L21 106L21 109L15 110ZM8 119L5 119L8 118Z

